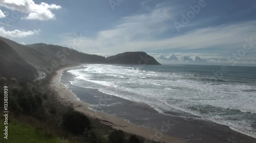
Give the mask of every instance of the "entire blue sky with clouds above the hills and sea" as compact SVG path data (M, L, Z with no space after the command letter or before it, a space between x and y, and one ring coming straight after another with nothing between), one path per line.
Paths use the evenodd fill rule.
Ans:
M0 36L162 64L256 66L254 0L0 0Z

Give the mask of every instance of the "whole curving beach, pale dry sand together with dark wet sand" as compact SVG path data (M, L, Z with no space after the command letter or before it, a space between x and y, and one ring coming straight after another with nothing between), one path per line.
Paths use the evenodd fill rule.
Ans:
M59 93L59 100L116 129L165 142L256 142L255 138L233 131L227 126L176 117L175 112L165 115L145 104L106 95L97 89L74 86L69 82L74 78L73 75L65 70L67 69L59 70L51 81L51 87ZM61 82L68 85L69 89L59 82L62 71Z

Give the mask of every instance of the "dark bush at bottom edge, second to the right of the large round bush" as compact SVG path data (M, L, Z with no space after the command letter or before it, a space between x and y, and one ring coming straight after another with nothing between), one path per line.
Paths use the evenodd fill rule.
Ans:
M123 143L125 142L125 135L122 130L114 130L109 134L109 142L111 143Z

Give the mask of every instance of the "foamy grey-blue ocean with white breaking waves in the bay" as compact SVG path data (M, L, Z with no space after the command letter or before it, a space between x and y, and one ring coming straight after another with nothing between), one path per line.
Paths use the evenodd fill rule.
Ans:
M89 64L67 72L75 77L69 81L74 86L256 138L256 67Z

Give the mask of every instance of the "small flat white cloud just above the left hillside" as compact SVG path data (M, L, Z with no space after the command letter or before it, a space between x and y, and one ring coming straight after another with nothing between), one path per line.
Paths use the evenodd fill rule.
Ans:
M6 37L6 38L23 38L35 34L39 34L41 31L40 29L38 30L33 30L33 31L19 31L19 30L14 30L14 31L6 31L4 27L0 27L0 36Z

